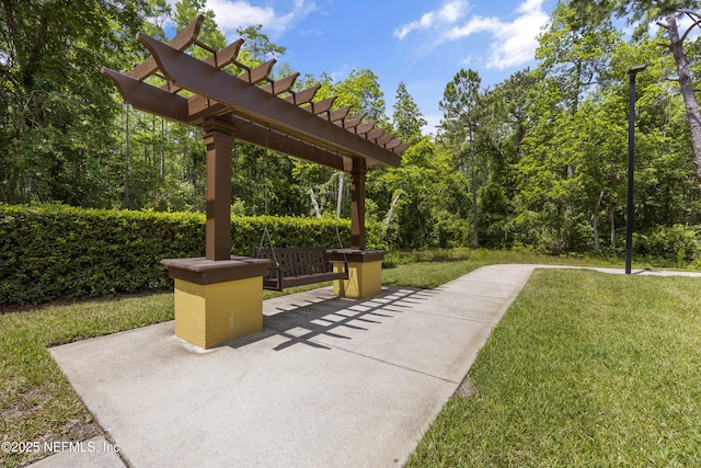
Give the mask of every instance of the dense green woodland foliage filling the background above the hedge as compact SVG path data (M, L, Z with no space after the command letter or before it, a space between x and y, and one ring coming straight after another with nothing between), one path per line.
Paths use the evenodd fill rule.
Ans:
M701 191L689 158L698 139L687 121L689 92L680 95L669 79L679 76L679 50L673 56L659 47L671 45L669 28L630 37L613 20L646 26L662 20L670 26L675 19L681 26L678 13L694 7L653 0L558 3L539 37L535 69L489 89L480 88L476 70L457 71L440 103L437 137L422 133L426 119L411 83L398 84L390 123L370 69L341 78L304 76L295 89L319 85L315 101L335 95L334 110L352 105L350 115L366 114L366 123L393 128L412 145L400 169L368 172L374 246L474 247L479 240L555 253L617 252L625 221L632 64L647 64L636 81L635 230L647 236L663 227L701 225ZM145 58L147 50L134 41L137 30L168 41L165 25L182 28L196 14L206 18L200 41L221 47L227 39L206 0L106 0L80 9L28 0L21 7L2 2L0 9L0 202L204 212L202 130L125 105L99 71L126 71ZM245 39L239 59L253 67L275 58L272 78L291 75L285 47L271 41L265 26L238 30ZM691 76L698 76L701 42L691 34L679 43ZM189 52L209 54L198 46ZM242 72L234 66L226 71ZM232 210L241 216L349 216L346 173L241 141L232 152L231 190ZM653 250L674 261L693 259L675 249Z

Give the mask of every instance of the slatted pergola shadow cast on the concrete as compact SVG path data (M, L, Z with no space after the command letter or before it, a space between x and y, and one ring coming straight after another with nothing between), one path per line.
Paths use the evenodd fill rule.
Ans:
M286 308L276 308L279 310L277 313L264 316L263 327L266 336L286 339L274 347L275 351L295 344L331 350L313 339L324 335L352 340L348 331L370 331L371 327L387 324L398 313L414 308L434 294L424 289L384 287L379 295L366 299L309 297ZM243 343L233 343L232 346L240 344Z

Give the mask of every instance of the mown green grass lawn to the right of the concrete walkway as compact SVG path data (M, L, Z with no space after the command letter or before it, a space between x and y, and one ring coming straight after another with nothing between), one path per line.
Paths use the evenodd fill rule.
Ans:
M700 284L536 272L409 466L701 466Z

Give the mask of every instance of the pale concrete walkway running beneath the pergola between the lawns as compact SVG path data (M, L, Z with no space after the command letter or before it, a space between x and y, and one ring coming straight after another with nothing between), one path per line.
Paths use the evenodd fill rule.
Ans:
M269 299L263 332L206 352L173 322L55 347L106 437L33 467L403 466L535 267Z

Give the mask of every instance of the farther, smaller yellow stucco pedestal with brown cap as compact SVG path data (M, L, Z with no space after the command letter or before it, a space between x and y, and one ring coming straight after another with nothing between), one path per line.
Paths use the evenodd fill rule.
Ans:
M361 299L382 292L383 250L333 250L331 259L348 262L348 279L333 282L333 294ZM343 271L342 263L334 263L334 271Z

